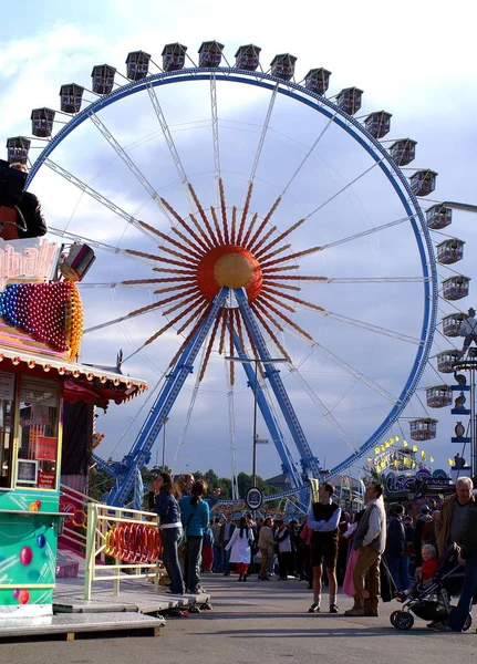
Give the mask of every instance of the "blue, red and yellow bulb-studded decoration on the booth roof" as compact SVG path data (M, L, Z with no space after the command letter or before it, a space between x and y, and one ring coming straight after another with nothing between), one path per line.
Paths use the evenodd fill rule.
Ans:
M0 293L0 315L74 360L83 334L83 307L72 281L11 283ZM31 366L32 369L32 366Z

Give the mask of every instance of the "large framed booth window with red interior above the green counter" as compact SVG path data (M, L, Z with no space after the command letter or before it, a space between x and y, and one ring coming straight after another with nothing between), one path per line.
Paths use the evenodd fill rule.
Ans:
M59 401L59 386L55 382L22 376L18 487L56 488Z

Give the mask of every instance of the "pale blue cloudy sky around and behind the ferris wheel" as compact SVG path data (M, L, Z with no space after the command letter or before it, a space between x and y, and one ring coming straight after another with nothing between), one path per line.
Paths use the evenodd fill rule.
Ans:
M172 7L143 1L136 9L128 2L111 1L103 2L98 9L97 2L85 0L81 10L68 9L64 2L56 1L41 6L24 2L19 9L7 10L7 17L2 18L0 50L3 142L8 136L30 135L32 108L58 108L61 84L75 82L90 87L95 64L108 63L125 74L126 55L136 50L151 53L153 61L160 64L164 44L176 41L187 45L188 54L197 61L197 50L208 39L224 43L227 60L234 63L239 45L255 43L262 49L265 71L276 53L290 52L298 56L297 82L309 69L324 66L332 72L328 96L351 85L362 89L363 106L357 117L384 108L393 114L386 139L409 136L417 141L417 157L411 169L405 170L406 175L413 173L413 167L432 168L439 174L433 200L477 203L474 122L477 74L474 35L470 22L465 20L470 2L457 2L448 13L406 1L400 3L398 10L382 8L372 12L363 11L354 2L342 2L332 9L304 1L297 10L281 0L260 2L253 12L239 12L236 4L225 11L218 4L214 8L210 2L197 1ZM158 70L152 66L152 71ZM116 82L126 83L120 74ZM185 172L204 207L209 208L215 205L209 85L207 82L168 85L157 94ZM85 92L84 96L86 101L94 100L91 93ZM229 208L242 207L270 97L268 91L218 82L220 165ZM186 216L187 198L148 95L129 96L103 110L98 116L155 189ZM56 115L56 120L55 132L68 117ZM323 129L319 148L300 168L273 217L273 225L281 231L344 189L290 237L292 251L335 242L404 216L390 184L377 169L360 178L372 165L364 151L334 125L325 126L326 121L320 113L279 95L257 168L251 212L265 217ZM41 152L37 142L31 153L33 159ZM168 232L167 219L91 121L75 129L51 158L127 214ZM353 186L348 186L355 179ZM124 219L44 166L31 189L40 196L48 220L55 228L121 249L153 253L157 249L151 238L138 234ZM422 205L425 209L431 203L423 199ZM453 269L471 278L476 277L471 259L477 242L476 221L474 215L454 212L453 225L445 231L466 241L465 259ZM445 237L435 235L433 240L438 243ZM91 284L153 276L151 264L145 262L107 251L98 251L97 258L87 277ZM421 266L412 229L404 224L307 257L299 261L299 271L363 281L417 277ZM453 273L442 266L438 272L440 278ZM474 282L466 300L455 304L440 301L440 315L455 311L456 307L466 311L475 305L473 286ZM154 302L157 297L145 289L111 288L85 288L83 294L86 326L125 315ZM391 409L393 397L401 393L416 353L415 344L403 341L402 336L419 336L423 287L419 283L334 282L305 286L300 297L349 319L346 323L323 318L299 307L291 318L315 343L307 344L288 331L281 339L298 370L282 370L284 384L313 453L322 465L332 467L372 435ZM132 355L164 321L160 313L151 313L92 333L85 338L82 360L113 364L120 347L125 356ZM364 330L356 326L355 321L395 331L398 339ZM439 330L436 332L432 354L452 347L455 341L460 343L460 340L444 338ZM153 387L179 344L180 338L170 331L146 351L135 353L125 363L124 371L146 378ZM273 346L271 352L279 353ZM238 369L234 390L234 445L237 469L250 471L252 395ZM214 353L187 432L185 423L195 375L187 381L176 402L166 429L166 461L170 465L177 457L177 471L214 467L219 474L230 474L229 400L225 376L225 362ZM421 387L443 382L448 382L447 377L437 374L432 361ZM100 448L104 457L111 454L121 458L128 452L151 405L151 401L141 397L127 406L111 407L100 419L98 428L106 435ZM392 434L408 435L408 418L426 415L424 406L425 393L421 390ZM428 455L435 456L434 466L443 467L447 457L457 452L449 443L455 418L444 411L427 413L439 419L439 425L436 440L426 449ZM261 418L258 430L260 437L268 437ZM298 460L288 432L286 435ZM162 443L160 436L153 449L153 460L157 455L159 463ZM259 473L270 476L279 469L272 446L259 448Z

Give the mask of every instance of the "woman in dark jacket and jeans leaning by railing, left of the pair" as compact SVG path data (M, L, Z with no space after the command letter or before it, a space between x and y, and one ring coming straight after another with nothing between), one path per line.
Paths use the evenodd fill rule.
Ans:
M159 473L155 481L158 494L155 510L160 518L163 538L163 562L170 579L170 592L184 594L183 572L179 566L178 544L183 537L179 504L174 496L173 479L168 473Z

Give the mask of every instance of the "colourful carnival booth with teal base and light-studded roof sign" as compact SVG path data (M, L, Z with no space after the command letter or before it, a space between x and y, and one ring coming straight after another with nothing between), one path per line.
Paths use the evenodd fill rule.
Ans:
M146 388L80 364L75 281L94 255L46 237L0 240L0 618L52 613L65 403L120 404Z

